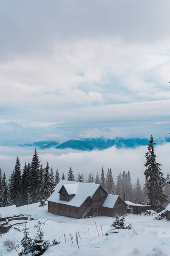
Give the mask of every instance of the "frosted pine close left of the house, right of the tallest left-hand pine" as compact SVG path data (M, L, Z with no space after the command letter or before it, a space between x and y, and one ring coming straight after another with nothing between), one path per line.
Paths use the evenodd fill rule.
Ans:
M49 198L54 188L54 183L51 181L51 175L49 173L49 169L50 167L47 162L47 165L44 169L44 177L43 177L42 188L41 188L42 189L41 195L43 200L47 200L47 198Z

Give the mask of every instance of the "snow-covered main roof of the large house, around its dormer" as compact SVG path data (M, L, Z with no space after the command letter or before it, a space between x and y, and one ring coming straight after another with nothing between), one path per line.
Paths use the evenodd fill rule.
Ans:
M77 186L75 186L75 184ZM75 194L74 198L71 199L71 201L61 201L59 200L59 190L61 189L62 185L65 186L65 189L69 190L69 193ZM74 186L68 186L68 185L74 185ZM75 181L68 181L68 180L60 180L57 186L54 188L54 192L51 194L51 196L47 199L47 201L51 201L54 203L59 204L67 204L75 207L80 207L82 203L85 201L85 199L88 196L93 196L96 190L99 188L99 184L95 183L83 183L83 182L75 182ZM77 191L76 191L77 187ZM67 190L67 191L68 191ZM75 193L76 191L76 193ZM73 193L74 192L74 193Z

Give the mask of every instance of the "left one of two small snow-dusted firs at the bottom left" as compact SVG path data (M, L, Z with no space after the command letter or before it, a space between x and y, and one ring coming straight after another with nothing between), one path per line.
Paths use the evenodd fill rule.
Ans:
M32 249L32 239L29 237L29 232L28 232L27 227L23 228L24 230L24 237L21 240L21 246L23 247L24 255L27 256L30 254L31 256L31 249ZM22 255L22 254L21 254Z

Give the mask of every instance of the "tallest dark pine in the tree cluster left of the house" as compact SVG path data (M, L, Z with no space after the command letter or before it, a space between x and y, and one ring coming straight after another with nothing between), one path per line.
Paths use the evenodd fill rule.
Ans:
M31 160L31 169L29 175L29 194L31 196L32 202L36 203L40 201L40 160L38 158L37 150L35 148L32 160Z

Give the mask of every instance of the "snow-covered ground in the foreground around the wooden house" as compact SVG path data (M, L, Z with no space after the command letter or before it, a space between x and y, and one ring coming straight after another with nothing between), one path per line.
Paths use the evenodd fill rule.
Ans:
M47 212L47 206L39 207L39 203L18 207L20 214L31 214L34 221L28 221L30 236L34 238L38 221L45 232L45 239L52 241L59 239L60 244L50 247L43 255L48 256L170 256L170 221L153 220L151 216L128 214L126 224L132 223L133 230L122 230L117 234L105 236L111 228L113 218L95 217L87 219L74 219L57 216ZM48 220L47 220L48 219ZM96 230L95 222L99 231ZM102 225L102 230L100 225ZM19 224L17 227L23 227ZM16 227L16 226L15 226ZM102 236L102 231L104 235ZM75 233L79 232L79 249L77 248ZM64 238L66 237L66 243ZM73 236L73 243L70 239ZM15 238L20 241L23 232L13 227L8 233L0 236L0 253L2 256L17 256L14 250L6 251L3 241ZM18 249L21 251L21 247Z

